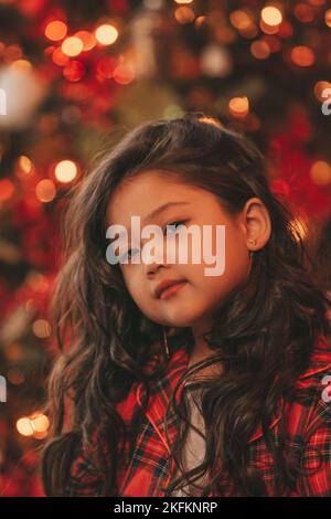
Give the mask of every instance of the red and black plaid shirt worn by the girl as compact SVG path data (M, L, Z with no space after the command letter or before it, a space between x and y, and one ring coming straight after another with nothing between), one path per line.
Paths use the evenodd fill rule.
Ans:
M158 362L156 356L147 369ZM180 347L172 352L167 371L156 380L151 388L147 413L134 453L129 454L126 446L124 457L119 460L117 473L118 497L163 497L163 488L174 470L173 458L170 456L169 443L166 438L163 420L167 405L174 388L188 369L189 353ZM328 379L330 375L330 379ZM305 475L299 474L295 490L287 494L290 497L331 496L331 392L328 382L331 381L331 347L321 338L314 349L309 369L297 380L298 394L308 388L312 396L309 399L280 400L277 414L269 428L277 442L279 438L278 422L284 409L288 428L287 447L295 456L301 456ZM136 382L127 399L117 404L117 411L122 416L128 431L132 426L132 417L137 406L141 407L143 386ZM178 391L178 402L182 385ZM301 391L302 393L302 391ZM330 395L330 396L329 396ZM274 419L274 417L273 417ZM168 435L170 444L177 437L175 421L169 421ZM128 443L128 442L127 442ZM267 486L268 495L275 496L276 468L273 456L267 449L261 426L249 439L249 460L260 470ZM308 472L308 474L306 474ZM72 465L65 494L68 496L103 496L103 477L94 470L87 449L81 449ZM236 496L236 489L228 480L226 496ZM212 494L210 497L213 496Z

